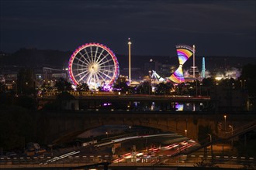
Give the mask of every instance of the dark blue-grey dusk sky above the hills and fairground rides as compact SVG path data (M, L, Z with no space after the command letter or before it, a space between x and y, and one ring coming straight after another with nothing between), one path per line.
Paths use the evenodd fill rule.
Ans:
M71 50L99 42L116 54L256 57L255 0L0 0L0 50Z

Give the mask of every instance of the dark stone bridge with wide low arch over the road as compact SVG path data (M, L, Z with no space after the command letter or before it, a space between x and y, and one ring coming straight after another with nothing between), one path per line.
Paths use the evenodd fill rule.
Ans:
M40 132L38 133L41 139L49 144L74 138L92 128L111 124L157 128L182 134L195 141L199 138L199 128L209 127L213 135L221 138L223 134L232 132L229 125L232 125L235 130L254 121L256 115L200 111L65 110L41 112L39 117Z

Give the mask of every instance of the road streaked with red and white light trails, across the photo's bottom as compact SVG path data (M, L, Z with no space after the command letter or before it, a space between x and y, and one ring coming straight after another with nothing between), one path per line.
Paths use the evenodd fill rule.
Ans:
M159 138L164 138L159 142ZM112 154L112 146L122 141L121 149ZM158 141L158 143L157 143ZM111 142L111 143L109 143ZM136 150L127 151L130 145L137 145ZM139 144L141 144L139 146ZM155 145L150 145L155 144ZM112 166L185 166L194 167L200 165L218 166L220 168L255 167L254 158L221 155L178 155L181 151L198 145L177 134L156 134L118 138L101 144L76 148L75 151L55 157L26 157L26 158L1 158L0 168L49 168L49 167L77 167L91 165L99 162L110 162ZM145 146L148 146L145 148ZM178 156L175 156L178 155ZM213 162L213 163L212 163Z

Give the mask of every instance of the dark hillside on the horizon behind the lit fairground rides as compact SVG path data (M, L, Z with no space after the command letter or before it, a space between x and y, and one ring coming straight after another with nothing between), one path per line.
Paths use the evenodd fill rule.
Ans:
M26 66L26 67L43 67L50 66L53 68L67 67L71 51L58 51L52 49L19 49L15 53L7 54L0 52L0 66ZM119 68L122 71L128 67L128 56L116 54L119 61ZM252 63L256 64L256 58L238 57L238 56L205 56L206 70L215 71L223 68L241 68L242 66ZM132 56L132 67L144 70L144 64L153 59L161 64L171 64L178 66L177 56ZM195 65L202 68L202 56L195 56ZM192 66L192 57L185 63L185 67Z

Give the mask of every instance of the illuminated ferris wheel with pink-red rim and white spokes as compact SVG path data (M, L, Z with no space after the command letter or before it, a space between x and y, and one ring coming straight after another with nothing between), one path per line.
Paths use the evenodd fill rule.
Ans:
M112 51L99 43L86 43L74 51L68 73L76 86L87 83L90 89L112 85L119 76L119 64Z

